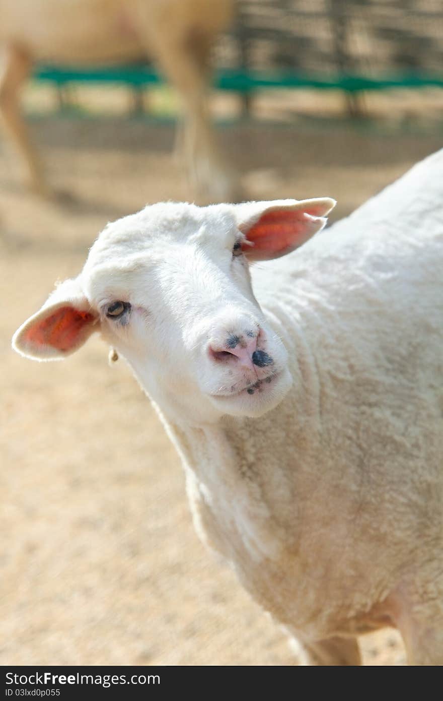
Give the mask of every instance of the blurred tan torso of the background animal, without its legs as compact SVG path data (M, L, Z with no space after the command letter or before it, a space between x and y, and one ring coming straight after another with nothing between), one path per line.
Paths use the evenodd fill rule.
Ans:
M166 42L194 39L197 49L205 32L228 25L232 0L0 0L0 15L0 41L38 62L102 64L155 55L162 32Z

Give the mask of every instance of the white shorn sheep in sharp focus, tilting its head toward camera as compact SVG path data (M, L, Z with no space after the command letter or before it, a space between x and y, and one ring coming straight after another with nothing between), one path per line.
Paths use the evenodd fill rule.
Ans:
M443 664L442 201L440 151L284 258L334 200L152 205L13 339L51 360L100 331L125 357L199 536L302 664L358 665L386 625Z

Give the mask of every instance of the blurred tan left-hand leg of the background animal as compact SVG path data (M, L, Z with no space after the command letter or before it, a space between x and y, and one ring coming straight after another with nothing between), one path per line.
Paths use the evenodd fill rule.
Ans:
M26 125L20 112L20 88L29 77L32 62L29 56L15 46L8 46L0 70L0 116L4 128L22 156L29 173L31 189L48 194L41 165L29 141Z

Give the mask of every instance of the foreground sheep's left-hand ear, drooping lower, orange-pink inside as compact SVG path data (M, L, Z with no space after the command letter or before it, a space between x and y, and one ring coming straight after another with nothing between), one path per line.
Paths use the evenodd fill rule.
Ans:
M15 332L13 348L33 360L61 360L98 330L98 318L78 280L65 280Z

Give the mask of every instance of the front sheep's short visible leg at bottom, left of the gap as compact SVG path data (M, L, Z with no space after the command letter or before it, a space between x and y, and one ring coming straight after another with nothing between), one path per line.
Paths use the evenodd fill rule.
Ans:
M353 667L362 664L356 638L333 637L318 641L293 641L299 665Z

